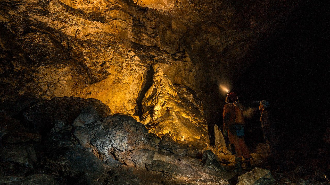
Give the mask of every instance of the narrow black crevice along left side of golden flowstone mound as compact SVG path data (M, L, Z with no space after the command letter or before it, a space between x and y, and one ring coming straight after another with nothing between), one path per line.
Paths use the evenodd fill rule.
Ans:
M142 88L138 99L136 100L136 104L138 105L138 116L139 119L141 119L143 112L142 112L142 100L145 97L145 94L147 93L147 91L149 90L149 88L152 86L153 83L153 74L155 74L155 71L153 70L153 67L150 66L149 70L146 72L146 80L145 80L145 84L144 87Z

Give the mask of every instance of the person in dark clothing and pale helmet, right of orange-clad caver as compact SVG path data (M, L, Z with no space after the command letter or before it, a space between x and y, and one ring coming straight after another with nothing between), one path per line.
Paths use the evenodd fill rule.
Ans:
M277 171L285 169L284 158L281 152L280 139L276 129L276 122L272 118L269 111L269 102L262 100L259 103L259 110L261 110L260 122L261 128L264 132L264 139L266 140L269 153L278 165Z

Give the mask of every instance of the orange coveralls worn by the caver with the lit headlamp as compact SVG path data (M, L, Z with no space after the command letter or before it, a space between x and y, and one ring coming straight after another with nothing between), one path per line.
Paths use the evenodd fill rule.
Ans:
M223 107L223 128L228 129L228 139L230 143L235 145L235 157L249 158L251 154L248 150L248 146L245 144L244 136L237 136L235 128L235 105L233 103L227 103Z

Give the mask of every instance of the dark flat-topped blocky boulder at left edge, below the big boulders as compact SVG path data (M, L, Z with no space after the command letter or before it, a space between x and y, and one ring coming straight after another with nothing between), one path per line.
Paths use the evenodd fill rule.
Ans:
M32 166L37 161L37 157L32 144L2 145L0 160Z

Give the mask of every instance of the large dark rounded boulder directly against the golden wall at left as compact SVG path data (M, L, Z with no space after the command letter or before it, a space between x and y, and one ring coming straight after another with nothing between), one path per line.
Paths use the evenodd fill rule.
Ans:
M85 110L84 108L91 107L102 118L111 114L110 108L100 100L64 96L39 101L24 113L24 117L33 128L41 132L47 132L59 121L62 121L65 125L72 124L81 114L81 111Z

